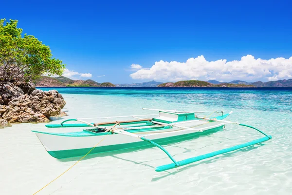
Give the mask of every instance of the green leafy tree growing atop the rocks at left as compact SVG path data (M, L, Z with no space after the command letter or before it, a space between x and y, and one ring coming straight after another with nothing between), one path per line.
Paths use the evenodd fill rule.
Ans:
M52 58L50 47L32 35L22 34L18 20L0 20L0 87L28 82L42 74L62 75L65 65Z

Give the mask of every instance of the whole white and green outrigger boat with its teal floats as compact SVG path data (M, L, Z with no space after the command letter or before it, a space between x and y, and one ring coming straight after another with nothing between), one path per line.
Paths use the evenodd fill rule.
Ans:
M161 149L171 160L172 163L156 167L155 171L161 172L176 167L181 167L205 158L228 153L234 150L252 146L271 139L271 136L266 135L262 131L250 125L241 124L238 122L231 122L223 120L231 113L223 115L223 112L218 111L199 111L199 112L183 112L176 110L158 110L158 117L149 117L153 115L135 115L135 116L121 116L121 117L102 117L102 118L81 118L68 119L61 122L61 124L48 124L48 128L66 128L66 127L91 127L80 132L70 133L48 133L33 131L47 150L47 152L58 159L84 156L91 151L91 154L116 151L128 148L137 148L152 144ZM217 117L200 117L199 113L220 113ZM157 116L157 115L156 115ZM105 118L123 118L134 117L135 120L112 122L89 123L86 119L105 119ZM69 121L79 121L81 123L67 123ZM181 161L176 161L162 147L169 141L175 141L183 138L191 138L204 131L216 131L222 129L226 124L237 124L252 128L264 137L239 144L230 148L215 151L201 156L187 158ZM109 135L109 136L108 136ZM101 142L101 140L103 140ZM96 143L100 142L96 147Z

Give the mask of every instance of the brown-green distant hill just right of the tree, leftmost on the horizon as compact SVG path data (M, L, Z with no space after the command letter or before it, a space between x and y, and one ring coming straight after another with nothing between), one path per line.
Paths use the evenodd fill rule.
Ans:
M73 80L67 77L41 76L34 82L37 87L115 87L110 82L98 83L94 80Z

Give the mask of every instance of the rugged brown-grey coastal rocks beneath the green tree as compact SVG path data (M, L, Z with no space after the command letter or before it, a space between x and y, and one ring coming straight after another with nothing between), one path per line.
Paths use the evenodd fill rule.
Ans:
M49 117L66 115L61 112L66 102L56 90L42 91L32 83L18 86L8 83L2 89L0 123L3 125L5 122L48 122Z

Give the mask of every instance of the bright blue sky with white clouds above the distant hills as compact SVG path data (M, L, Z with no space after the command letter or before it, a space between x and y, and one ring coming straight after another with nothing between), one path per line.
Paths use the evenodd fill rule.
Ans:
M78 73L73 78L83 73L112 83L246 77L266 81L292 75L291 7L288 0L6 0L1 2L0 18L19 20L18 27L49 45L54 57L67 64L69 74ZM247 55L254 61L249 56L242 60ZM201 58L198 62L198 56L226 62L210 64ZM190 58L195 59L186 63ZM160 60L161 65L154 67L160 70L148 70ZM232 60L238 63L226 65ZM242 66L241 72L237 66ZM247 68L252 71L244 71Z

